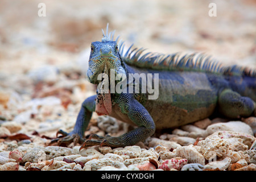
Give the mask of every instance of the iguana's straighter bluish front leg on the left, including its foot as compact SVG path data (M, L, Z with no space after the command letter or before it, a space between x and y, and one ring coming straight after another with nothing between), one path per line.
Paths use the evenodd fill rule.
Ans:
M89 124L90 118L92 117L92 113L93 111L95 111L95 106L96 106L96 96L91 96L86 98L86 100L82 103L81 109L79 111L79 115L77 116L77 120L76 120L76 124L75 127L73 129L73 131L71 131L71 133L67 133L63 130L59 130L57 133L63 134L65 137L63 138L56 138L51 140L50 144L53 143L82 143L84 142L84 132L86 127ZM75 144L74 144L75 145Z

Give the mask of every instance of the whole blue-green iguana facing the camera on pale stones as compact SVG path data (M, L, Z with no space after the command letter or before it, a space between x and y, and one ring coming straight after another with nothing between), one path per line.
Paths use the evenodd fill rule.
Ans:
M60 130L58 133L64 137L53 139L51 143L84 142L81 148L94 145L124 147L145 140L156 129L177 127L207 118L216 109L229 118L255 115L255 70L237 65L224 67L211 56L201 53L143 53L144 49L133 48L133 45L124 51L124 43L121 41L118 47L119 36L114 40L114 33L108 33L108 26L106 34L102 32L101 42L92 42L91 45L86 75L89 82L108 90L113 86L111 80L114 80L114 86L125 81L127 89L122 85L122 90L137 85L139 93L100 93L98 89L96 95L82 103L73 131L66 133ZM114 71L114 75L110 71ZM139 84L135 79L122 80L120 75L128 78L129 73L151 73L153 78L157 75L158 85L154 83L154 86L158 86L158 97L148 99L152 92L142 92L142 84L148 77L140 79ZM138 127L120 137L93 134L84 141L84 132L94 111Z

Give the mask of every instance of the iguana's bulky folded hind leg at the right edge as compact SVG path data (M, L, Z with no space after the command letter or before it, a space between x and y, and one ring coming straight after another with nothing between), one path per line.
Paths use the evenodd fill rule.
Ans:
M222 90L218 97L220 112L226 117L239 118L249 117L256 114L256 105L249 97L242 97L230 89Z

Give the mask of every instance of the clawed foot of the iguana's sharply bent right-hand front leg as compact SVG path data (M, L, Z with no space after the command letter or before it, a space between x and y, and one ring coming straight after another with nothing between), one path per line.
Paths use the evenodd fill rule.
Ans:
M87 147L92 147L92 146L97 146L99 145L100 147L103 146L109 146L109 147L123 147L125 146L124 143L121 143L119 140L119 137L111 137L110 135L106 135L105 137L98 136L96 134L90 135L90 137L85 140L85 142L82 144L80 147L80 151L83 148Z

